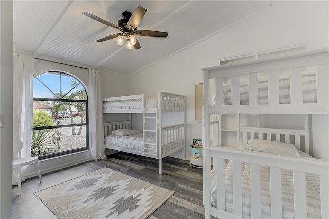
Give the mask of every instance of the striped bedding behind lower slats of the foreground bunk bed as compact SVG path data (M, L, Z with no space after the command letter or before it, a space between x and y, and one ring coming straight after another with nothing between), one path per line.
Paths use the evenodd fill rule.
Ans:
M310 157L304 152L301 156ZM251 218L250 199L250 163L241 163L242 174L242 217ZM269 167L260 166L261 174L261 214L262 218L271 217L270 207L270 177ZM294 218L294 193L293 193L293 173L290 170L281 170L282 180L282 215L283 218ZM226 212L233 213L233 165L230 161L225 169L225 199ZM307 216L308 218L321 218L320 204L320 181L314 174L306 174L306 195L307 195ZM211 192L212 206L217 207L217 187Z

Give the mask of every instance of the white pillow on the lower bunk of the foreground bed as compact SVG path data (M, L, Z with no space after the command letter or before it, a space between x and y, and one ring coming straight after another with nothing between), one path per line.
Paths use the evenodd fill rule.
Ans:
M281 143L277 141L250 139L246 149L251 151L299 156L299 153L293 144Z

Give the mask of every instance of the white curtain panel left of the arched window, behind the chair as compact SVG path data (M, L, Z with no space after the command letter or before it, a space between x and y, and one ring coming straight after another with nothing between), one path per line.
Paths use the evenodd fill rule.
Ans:
M33 127L33 72L34 58L22 53L13 54L13 139L23 142L21 157L31 156ZM17 154L13 154L13 159ZM22 180L28 166L22 168ZM17 169L17 168L16 168ZM13 184L17 184L17 170L13 171Z

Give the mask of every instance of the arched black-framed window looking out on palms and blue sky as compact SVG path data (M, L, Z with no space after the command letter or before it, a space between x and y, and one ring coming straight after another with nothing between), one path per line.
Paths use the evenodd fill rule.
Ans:
M79 79L61 71L33 78L31 156L39 159L88 149L88 98Z

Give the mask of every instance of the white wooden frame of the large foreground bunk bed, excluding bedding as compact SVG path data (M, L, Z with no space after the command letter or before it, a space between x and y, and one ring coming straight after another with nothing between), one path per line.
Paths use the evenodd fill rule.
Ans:
M305 152L309 153L309 115L329 113L328 63L329 50L321 49L294 56L202 69L204 71L203 191L206 218L242 217L241 169L239 169L241 162L251 163L252 218L261 218L260 165L270 167L272 218L282 218L280 169L292 170L294 174L295 218L307 218L305 173L320 176L321 214L322 218L329 218L329 162L327 160L237 149L240 145L246 145L248 139L264 138L290 143L290 139L293 138L298 150L301 149L301 141L305 141ZM316 66L317 69L317 103L303 104L302 67L306 66ZM281 69L290 69L291 104L279 104L278 72ZM258 104L258 72L268 73L268 105ZM239 77L242 75L248 76L249 105L240 105ZM223 103L223 77L231 77L232 105ZM215 80L215 106L210 102L211 80ZM305 125L302 130L265 129L241 127L237 122L236 148L228 148L221 147L221 124L213 120L214 115L218 114L236 114L238 120L239 114L304 114ZM243 136L242 140L240 136ZM225 160L233 160L233 214L225 212ZM215 182L217 182L218 203L217 207L212 207L211 190Z

